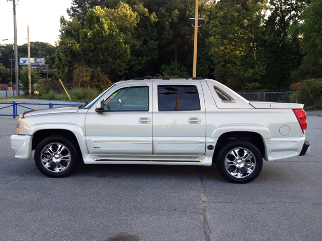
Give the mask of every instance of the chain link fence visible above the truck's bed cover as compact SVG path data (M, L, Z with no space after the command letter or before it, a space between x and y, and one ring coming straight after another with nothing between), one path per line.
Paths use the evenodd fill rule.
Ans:
M279 92L237 92L249 101L267 101L280 103L297 103L300 91ZM291 98L292 95L292 98Z

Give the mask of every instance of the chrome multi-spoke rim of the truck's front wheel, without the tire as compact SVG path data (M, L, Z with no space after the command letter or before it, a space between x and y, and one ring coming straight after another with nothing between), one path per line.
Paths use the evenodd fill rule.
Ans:
M50 143L41 151L41 163L50 172L58 173L70 165L70 151L60 143Z

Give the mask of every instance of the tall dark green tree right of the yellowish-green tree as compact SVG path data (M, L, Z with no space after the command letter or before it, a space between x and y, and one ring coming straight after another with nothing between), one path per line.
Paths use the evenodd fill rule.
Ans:
M263 85L269 89L288 88L291 73L301 63L300 39L289 34L289 28L300 21L308 0L271 0L271 14L265 23L264 54L267 59Z

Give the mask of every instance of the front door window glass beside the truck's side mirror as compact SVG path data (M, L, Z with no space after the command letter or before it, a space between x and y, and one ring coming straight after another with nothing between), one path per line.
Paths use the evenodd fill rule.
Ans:
M116 90L104 101L106 111L148 111L149 87L126 87Z

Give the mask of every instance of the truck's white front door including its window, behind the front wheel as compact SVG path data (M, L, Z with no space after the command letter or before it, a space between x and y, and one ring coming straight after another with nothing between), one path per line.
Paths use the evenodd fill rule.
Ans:
M86 141L90 154L152 154L151 87L148 80L116 85L103 97L103 112L96 112L95 106L89 109Z

